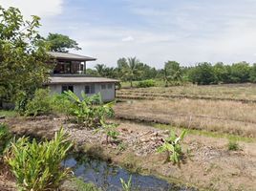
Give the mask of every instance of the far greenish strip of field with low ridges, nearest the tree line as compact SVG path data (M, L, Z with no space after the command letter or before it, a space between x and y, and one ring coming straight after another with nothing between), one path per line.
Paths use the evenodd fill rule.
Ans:
M256 102L256 84L226 84L210 86L152 87L140 89L121 89L118 98L194 98L221 99Z

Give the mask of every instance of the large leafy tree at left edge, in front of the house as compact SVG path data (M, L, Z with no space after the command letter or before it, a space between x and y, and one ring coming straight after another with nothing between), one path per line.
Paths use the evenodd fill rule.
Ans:
M25 104L48 80L45 41L36 31L40 18L23 19L15 8L0 7L0 100Z

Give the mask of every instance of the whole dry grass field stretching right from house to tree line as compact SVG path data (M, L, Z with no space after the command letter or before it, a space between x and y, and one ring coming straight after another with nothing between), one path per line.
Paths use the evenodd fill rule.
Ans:
M125 89L117 96L142 99L117 103L117 117L256 138L255 84Z

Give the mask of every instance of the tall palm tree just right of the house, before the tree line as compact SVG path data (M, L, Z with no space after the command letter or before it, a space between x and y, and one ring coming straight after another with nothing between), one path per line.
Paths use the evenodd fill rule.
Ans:
M133 81L138 79L141 74L139 70L139 60L137 57L128 57L128 63L123 67L123 78L130 81L131 87L133 87Z

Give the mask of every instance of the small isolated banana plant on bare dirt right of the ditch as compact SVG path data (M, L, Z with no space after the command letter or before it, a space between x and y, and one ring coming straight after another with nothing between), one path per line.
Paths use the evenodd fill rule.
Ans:
M158 152L167 152L168 160L179 164L182 157L181 141L185 135L185 130L182 131L181 136L179 137L175 132L171 132L170 137L166 138L164 143L158 148Z

